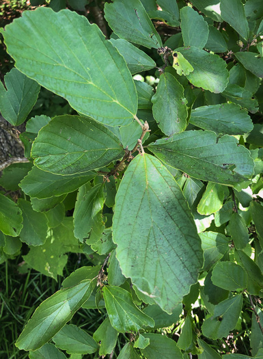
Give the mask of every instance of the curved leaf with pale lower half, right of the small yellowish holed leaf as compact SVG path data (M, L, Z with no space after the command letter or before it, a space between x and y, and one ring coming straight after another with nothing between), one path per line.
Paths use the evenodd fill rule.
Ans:
M208 53L195 46L181 47L176 51L182 53L193 66L193 72L186 76L193 85L216 94L225 90L229 74L225 61L219 55Z

